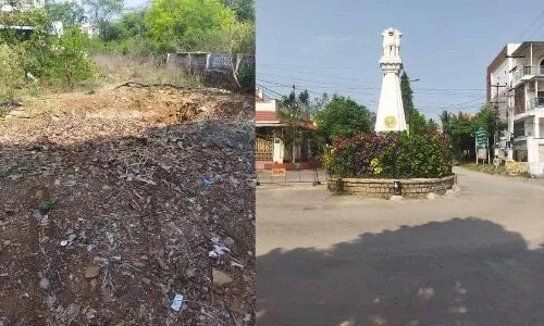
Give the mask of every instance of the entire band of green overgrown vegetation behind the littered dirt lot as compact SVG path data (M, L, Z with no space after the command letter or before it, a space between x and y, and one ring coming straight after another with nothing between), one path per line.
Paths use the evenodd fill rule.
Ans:
M152 58L156 68L164 67L166 52L255 53L254 7L254 0L158 0L125 10L123 0L85 0L1 12L0 100L95 84L107 75L92 58L106 53ZM95 33L84 33L84 23ZM255 68L237 77L244 90L255 89Z

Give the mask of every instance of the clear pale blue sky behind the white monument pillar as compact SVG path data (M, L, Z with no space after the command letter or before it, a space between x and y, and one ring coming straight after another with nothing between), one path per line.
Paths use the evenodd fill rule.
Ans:
M257 83L271 98L308 89L378 110L381 34L403 33L413 102L437 120L485 102L487 65L510 42L544 40L544 4L492 0L257 0ZM279 93L279 95L277 95Z

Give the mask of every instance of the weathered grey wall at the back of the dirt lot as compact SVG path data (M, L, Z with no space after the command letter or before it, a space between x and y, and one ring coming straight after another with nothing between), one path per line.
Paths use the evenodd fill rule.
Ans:
M255 91L255 54L169 53L166 68L181 70L185 74L197 76L209 87Z

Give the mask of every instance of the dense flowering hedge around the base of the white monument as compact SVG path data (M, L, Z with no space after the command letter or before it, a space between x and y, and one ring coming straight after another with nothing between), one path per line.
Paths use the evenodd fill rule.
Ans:
M324 159L341 177L433 178L452 174L452 153L440 134L374 133L339 137Z

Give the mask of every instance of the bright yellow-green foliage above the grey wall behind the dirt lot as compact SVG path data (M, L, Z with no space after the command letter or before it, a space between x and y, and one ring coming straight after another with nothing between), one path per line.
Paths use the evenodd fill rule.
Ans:
M95 49L137 55L255 53L254 7L254 0L157 0L115 21L97 18L101 36Z

